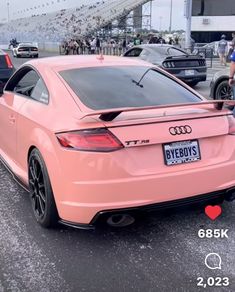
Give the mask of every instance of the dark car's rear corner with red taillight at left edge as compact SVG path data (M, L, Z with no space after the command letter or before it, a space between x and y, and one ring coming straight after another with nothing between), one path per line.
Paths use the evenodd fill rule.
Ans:
M14 72L14 66L8 54L0 50L0 87L4 87L5 83Z

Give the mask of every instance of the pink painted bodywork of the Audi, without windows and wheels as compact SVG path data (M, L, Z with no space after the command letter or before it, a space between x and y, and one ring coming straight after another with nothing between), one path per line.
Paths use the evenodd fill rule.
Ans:
M235 186L235 121L230 110L219 109L220 102L208 102L197 94L199 103L124 108L116 118L105 121L101 114L119 110L88 108L59 74L79 68L140 65L150 66L106 56L104 60L96 56L34 60L23 67L32 66L43 78L49 103L25 98L9 90L9 86L0 98L3 161L28 186L30 152L38 149L47 168L59 219L64 223L89 226L102 212L120 212L213 192L222 196ZM89 129L100 128L108 129L107 139L117 144L115 151L68 148L66 135L60 141L63 133L89 133ZM188 141L195 140L200 159L175 165L170 160L172 165L166 164L167 149L174 147L171 143L186 141L187 146ZM168 146L163 148L164 145Z

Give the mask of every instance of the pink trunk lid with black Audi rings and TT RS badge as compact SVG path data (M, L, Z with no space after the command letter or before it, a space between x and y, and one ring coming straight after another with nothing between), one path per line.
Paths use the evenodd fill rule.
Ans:
M103 124L125 147L209 138L228 133L228 111L218 113L182 109L176 112L171 109L158 114L158 118L151 118L150 113L142 113L138 122L136 114L123 114L122 120Z

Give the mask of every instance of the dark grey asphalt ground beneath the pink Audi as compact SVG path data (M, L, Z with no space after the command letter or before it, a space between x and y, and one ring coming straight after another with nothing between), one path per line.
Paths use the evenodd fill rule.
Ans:
M26 61L12 60L16 67ZM208 84L195 89L208 94ZM0 193L0 291L235 291L235 203L224 203L215 221L194 207L149 214L122 229L47 230L1 163ZM228 229L228 238L199 238L208 228ZM205 265L210 253L221 257L221 269ZM228 277L230 285L203 288L199 277Z

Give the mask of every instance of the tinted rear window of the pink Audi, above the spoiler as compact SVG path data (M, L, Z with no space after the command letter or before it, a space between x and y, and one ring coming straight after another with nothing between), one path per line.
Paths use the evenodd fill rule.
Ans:
M82 68L61 71L60 75L80 100L94 110L201 101L150 67Z

